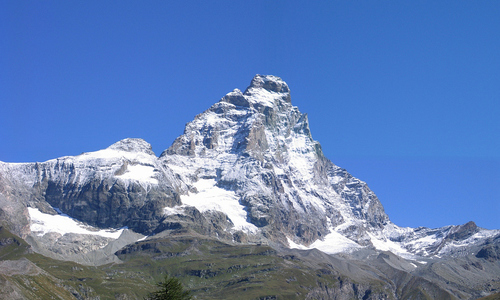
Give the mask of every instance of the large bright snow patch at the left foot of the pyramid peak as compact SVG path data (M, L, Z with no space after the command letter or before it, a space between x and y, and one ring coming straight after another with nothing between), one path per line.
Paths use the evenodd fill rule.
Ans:
M220 211L233 222L235 230L257 232L257 226L247 221L245 207L238 202L232 191L217 187L214 179L200 179L194 186L198 193L181 196L183 204L196 207L200 212Z

